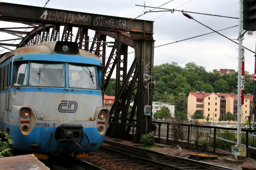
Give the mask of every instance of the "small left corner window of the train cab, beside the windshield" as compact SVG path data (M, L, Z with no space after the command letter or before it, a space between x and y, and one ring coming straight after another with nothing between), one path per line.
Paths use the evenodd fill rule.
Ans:
M28 63L18 65L18 69L14 75L14 86L26 85L28 75Z

